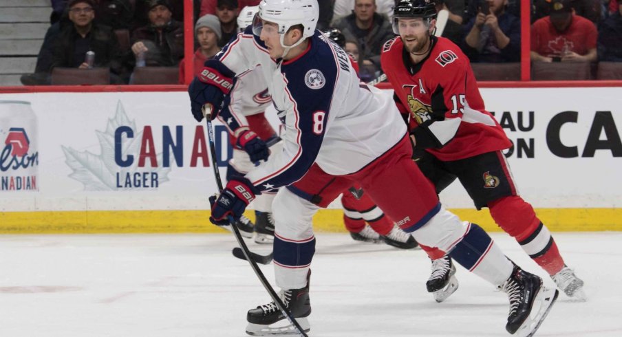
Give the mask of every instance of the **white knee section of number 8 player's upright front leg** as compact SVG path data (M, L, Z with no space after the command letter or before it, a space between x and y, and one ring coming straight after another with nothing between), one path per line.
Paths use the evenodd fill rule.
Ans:
M313 237L312 218L318 209L287 188L281 188L272 202L275 236L296 241Z

